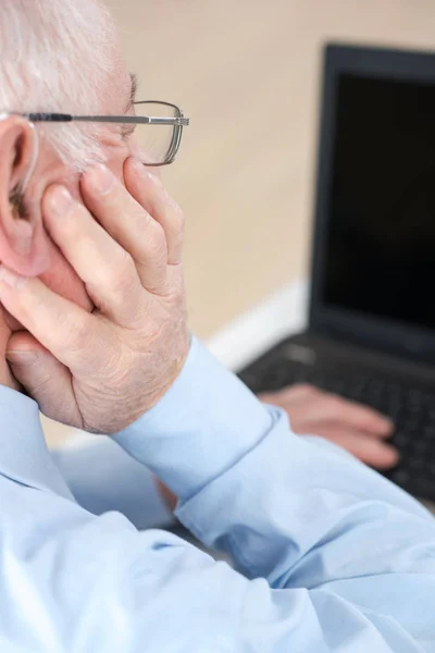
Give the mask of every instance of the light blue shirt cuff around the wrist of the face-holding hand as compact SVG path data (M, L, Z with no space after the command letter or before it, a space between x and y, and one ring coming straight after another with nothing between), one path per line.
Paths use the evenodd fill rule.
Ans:
M192 337L172 387L113 438L186 501L235 465L273 424L273 411Z

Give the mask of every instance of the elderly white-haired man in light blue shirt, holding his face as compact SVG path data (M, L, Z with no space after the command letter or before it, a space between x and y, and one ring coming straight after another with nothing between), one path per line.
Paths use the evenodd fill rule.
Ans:
M103 8L0 19L1 651L434 651L433 518L189 337L183 217ZM235 569L79 506L38 405L111 434Z

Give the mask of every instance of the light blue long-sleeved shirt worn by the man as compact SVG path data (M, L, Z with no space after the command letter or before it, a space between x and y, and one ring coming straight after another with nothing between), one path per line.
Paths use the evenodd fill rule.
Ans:
M196 340L172 389L115 438L136 461L114 445L99 464L73 454L78 472L58 457L88 510L37 405L2 387L0 411L1 653L435 651L433 517L341 449L294 435ZM235 569L89 512L140 526L142 502L169 519L142 466Z

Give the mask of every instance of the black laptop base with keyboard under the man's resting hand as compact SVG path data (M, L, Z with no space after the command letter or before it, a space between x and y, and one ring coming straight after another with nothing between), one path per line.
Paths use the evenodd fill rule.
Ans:
M254 393L310 383L390 417L400 463L385 476L435 501L435 367L306 332L276 345L239 377Z

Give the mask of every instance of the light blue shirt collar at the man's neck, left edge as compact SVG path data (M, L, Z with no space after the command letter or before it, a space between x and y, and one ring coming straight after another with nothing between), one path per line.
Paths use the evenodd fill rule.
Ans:
M38 404L0 386L0 475L73 498L48 451Z

